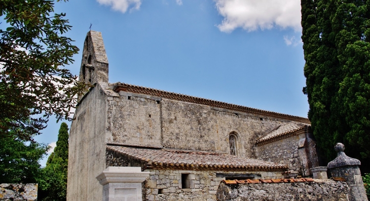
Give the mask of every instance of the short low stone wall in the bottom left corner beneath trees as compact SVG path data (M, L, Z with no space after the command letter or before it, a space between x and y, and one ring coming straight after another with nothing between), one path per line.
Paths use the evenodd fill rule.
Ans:
M38 184L0 184L0 200L37 200L38 197Z

